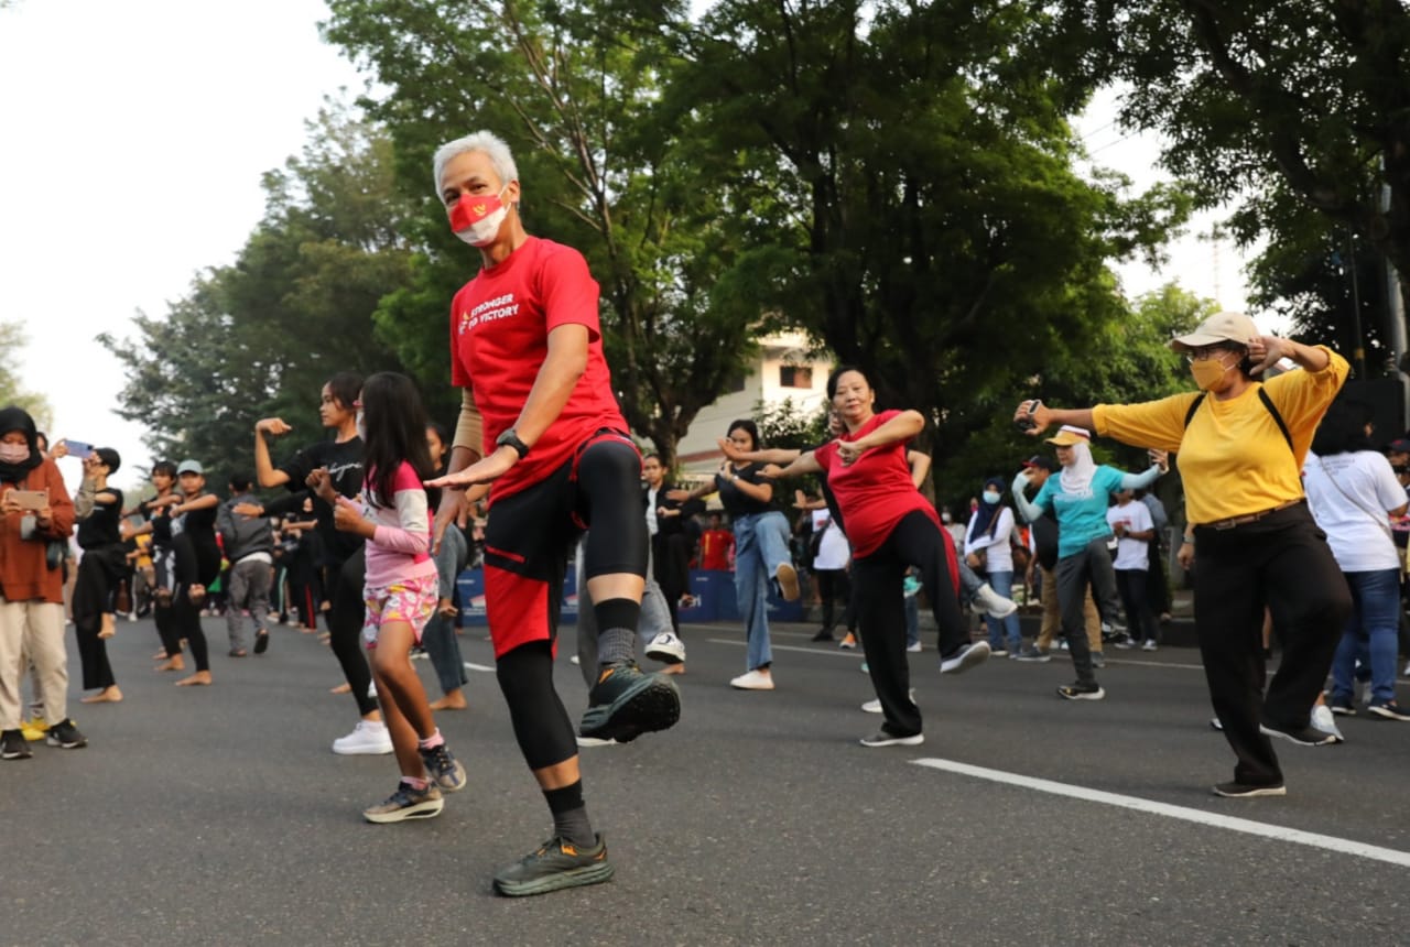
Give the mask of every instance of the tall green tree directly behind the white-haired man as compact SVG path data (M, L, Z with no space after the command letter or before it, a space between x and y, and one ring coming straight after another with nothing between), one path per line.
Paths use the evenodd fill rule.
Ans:
M682 4L632 6L334 0L326 34L391 90L368 107L398 142L403 186L426 194L424 254L378 316L403 358L446 364L446 307L471 275L430 200L433 149L491 128L515 149L529 228L588 258L623 413L670 465L768 320L742 289L757 261L698 173L699 130L661 116L671 62L656 17Z

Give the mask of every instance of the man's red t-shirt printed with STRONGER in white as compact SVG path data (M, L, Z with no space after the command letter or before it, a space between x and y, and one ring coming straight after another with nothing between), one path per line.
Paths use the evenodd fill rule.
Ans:
M450 379L470 386L485 420L484 452L519 420L558 326L588 327L588 368L529 455L495 481L491 503L558 469L592 434L626 431L602 357L598 283L582 254L530 237L505 261L465 283L450 310Z

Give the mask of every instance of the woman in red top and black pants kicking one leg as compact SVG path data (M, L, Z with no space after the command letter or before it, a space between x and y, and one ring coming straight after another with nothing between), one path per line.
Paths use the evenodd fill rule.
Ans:
M909 696L905 658L907 567L916 567L940 630L940 672L959 674L988 658L988 644L970 644L956 588L955 543L935 506L911 482L907 444L925 427L919 411L881 411L862 369L843 365L828 379L828 397L847 433L801 455L774 476L823 474L838 497L852 541L852 579L857 596L862 647L881 700L881 731L864 747L925 741L921 709Z

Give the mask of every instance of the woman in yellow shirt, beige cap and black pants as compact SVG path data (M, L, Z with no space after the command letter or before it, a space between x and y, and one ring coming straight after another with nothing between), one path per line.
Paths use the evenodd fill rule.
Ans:
M1200 392L1142 404L1055 410L1024 402L1029 434L1074 424L1127 444L1179 451L1186 513L1180 561L1198 554L1194 626L1214 713L1238 764L1228 798L1286 795L1269 737L1303 745L1330 737L1308 726L1351 612L1351 595L1307 510L1303 458L1347 380L1325 347L1262 335L1242 313L1218 313L1170 348L1190 361ZM1303 371L1258 376L1289 358ZM1263 607L1283 631L1283 661L1263 696Z

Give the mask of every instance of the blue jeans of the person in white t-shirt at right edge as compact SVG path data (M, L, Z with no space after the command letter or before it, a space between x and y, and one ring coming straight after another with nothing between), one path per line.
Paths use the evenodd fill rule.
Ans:
M1371 699L1396 699L1400 636L1400 574L1397 569L1342 572L1351 586L1352 613L1331 662L1332 698L1351 700L1356 658L1371 652Z

